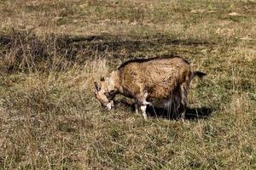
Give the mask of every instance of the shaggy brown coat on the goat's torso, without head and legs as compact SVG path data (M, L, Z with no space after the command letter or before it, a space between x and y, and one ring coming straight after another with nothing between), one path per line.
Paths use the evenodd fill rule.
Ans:
M119 86L135 97L148 91L148 99L168 99L172 91L191 73L188 62L181 58L153 58L128 61L119 68Z

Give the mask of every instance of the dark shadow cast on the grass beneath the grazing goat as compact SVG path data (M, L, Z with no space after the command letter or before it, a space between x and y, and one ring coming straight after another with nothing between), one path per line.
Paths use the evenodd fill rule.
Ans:
M116 104L119 106L129 107L132 111L135 111L135 105L130 104L125 100L116 101ZM194 107L194 108L187 108L185 111L185 119L186 120L197 120L197 119L206 119L207 117L211 116L212 108L203 106L203 107ZM147 115L153 118L165 118L176 120L179 117L173 111L168 110L162 107L155 107L155 106L148 106L147 107Z

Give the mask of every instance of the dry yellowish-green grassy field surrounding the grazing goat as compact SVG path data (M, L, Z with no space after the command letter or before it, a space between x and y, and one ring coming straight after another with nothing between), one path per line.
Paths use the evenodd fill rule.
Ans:
M207 72L184 122L102 110L94 81L166 54ZM0 169L255 169L255 79L253 0L2 0Z

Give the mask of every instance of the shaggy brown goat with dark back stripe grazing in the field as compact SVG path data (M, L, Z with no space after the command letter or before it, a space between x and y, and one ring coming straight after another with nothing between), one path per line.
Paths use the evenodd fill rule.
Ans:
M189 84L193 77L203 77L206 73L192 71L188 61L178 57L134 59L120 65L109 77L95 82L96 99L110 110L115 94L123 94L135 99L136 112L142 111L146 119L147 105L151 101L168 99L177 112L188 105Z

